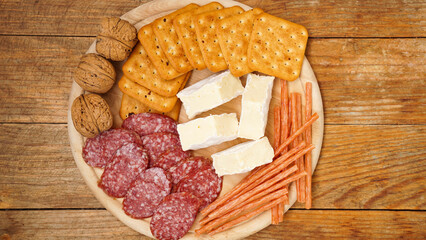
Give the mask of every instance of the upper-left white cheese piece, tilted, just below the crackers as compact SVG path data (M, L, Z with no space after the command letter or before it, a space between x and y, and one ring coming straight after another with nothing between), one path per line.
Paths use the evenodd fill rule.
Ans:
M188 118L193 118L232 100L243 91L240 79L228 70L183 89L177 96L182 101Z

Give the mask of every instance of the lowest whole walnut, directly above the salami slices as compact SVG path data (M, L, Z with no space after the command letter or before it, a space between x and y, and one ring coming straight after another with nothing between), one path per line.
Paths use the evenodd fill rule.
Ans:
M112 127L112 114L108 103L97 94L82 94L74 100L71 117L75 129L88 138Z

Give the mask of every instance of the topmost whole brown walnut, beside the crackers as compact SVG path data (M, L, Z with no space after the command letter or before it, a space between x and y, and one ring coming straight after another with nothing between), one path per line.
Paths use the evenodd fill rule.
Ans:
M96 51L107 59L123 61L126 59L137 39L136 28L120 18L102 20L102 31L96 37Z

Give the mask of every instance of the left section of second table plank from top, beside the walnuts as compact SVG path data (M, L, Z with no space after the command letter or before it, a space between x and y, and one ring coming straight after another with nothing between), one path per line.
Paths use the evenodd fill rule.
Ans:
M65 123L74 69L93 40L0 37L0 122Z

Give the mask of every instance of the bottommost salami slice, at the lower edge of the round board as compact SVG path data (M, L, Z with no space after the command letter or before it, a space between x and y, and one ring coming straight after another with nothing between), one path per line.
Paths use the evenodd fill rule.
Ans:
M152 235L159 240L177 240L194 223L200 200L190 193L173 193L164 198L152 216Z

